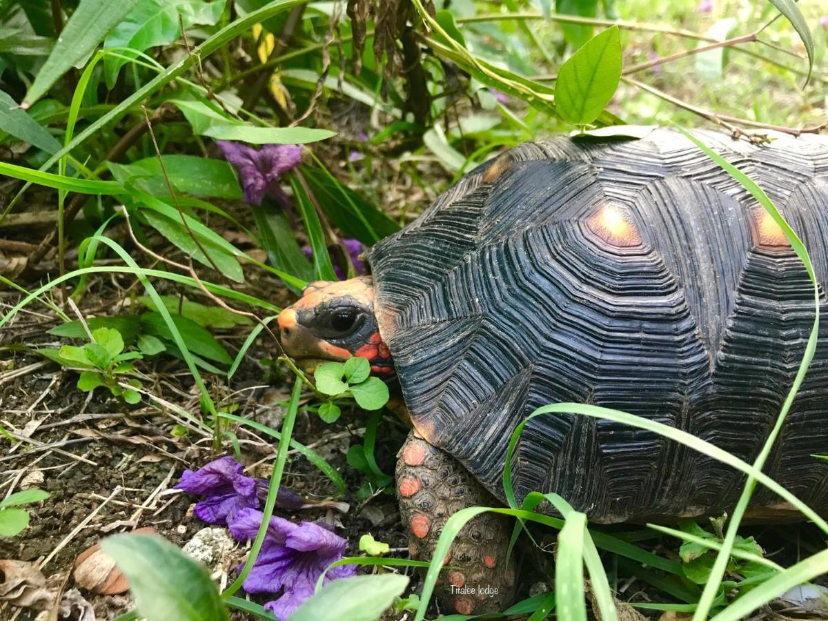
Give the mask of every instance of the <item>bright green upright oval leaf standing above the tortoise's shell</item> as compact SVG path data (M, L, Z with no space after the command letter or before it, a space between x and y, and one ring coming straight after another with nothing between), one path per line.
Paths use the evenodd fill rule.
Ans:
M555 104L561 118L575 125L592 123L612 99L621 79L618 26L599 32L561 65Z

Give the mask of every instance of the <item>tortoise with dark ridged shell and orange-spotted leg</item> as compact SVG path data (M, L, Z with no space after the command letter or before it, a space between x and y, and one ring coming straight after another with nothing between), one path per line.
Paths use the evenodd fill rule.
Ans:
M825 313L828 141L697 135L758 181L799 233ZM632 412L752 461L814 319L813 286L779 225L666 128L628 142L514 147L366 258L372 276L311 283L278 323L286 353L307 368L363 356L398 382L413 426L397 465L413 558L431 558L460 508L503 503L513 430L549 403ZM826 340L822 328L766 466L820 513L828 463L811 455L828 447ZM518 502L556 492L593 522L719 514L744 484L650 431L574 414L533 418L515 456ZM766 489L753 496L755 517L791 509ZM475 517L444 560L457 569L437 595L461 614L513 595L505 520Z

